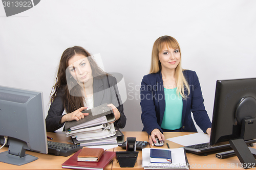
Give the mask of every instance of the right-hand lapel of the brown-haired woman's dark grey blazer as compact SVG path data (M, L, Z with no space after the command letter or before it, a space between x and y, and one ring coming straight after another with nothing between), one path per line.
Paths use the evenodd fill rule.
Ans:
M101 79L93 78L93 107L101 104L104 95L104 88Z

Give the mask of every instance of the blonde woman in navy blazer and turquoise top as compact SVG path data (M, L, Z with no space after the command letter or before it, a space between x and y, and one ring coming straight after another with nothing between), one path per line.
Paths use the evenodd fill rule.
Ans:
M197 132L197 125L210 134L211 122L203 104L200 83L195 71L181 67L180 45L170 36L159 37L152 50L150 74L141 82L141 120L143 131L162 142L163 132Z

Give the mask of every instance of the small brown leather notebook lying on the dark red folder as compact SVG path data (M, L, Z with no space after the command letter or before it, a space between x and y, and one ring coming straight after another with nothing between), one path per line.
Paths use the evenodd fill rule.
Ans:
M103 153L102 148L83 148L77 156L77 161L98 162Z

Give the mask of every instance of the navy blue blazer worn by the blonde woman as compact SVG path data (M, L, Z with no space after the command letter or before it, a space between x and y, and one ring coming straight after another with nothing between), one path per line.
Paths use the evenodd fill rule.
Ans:
M186 78L190 93L187 99L182 99L182 132L197 132L191 112L197 125L206 133L206 130L211 127L209 116L204 107L204 100L201 91L201 86L198 76L195 71L183 70L183 75ZM187 95L187 90L184 90ZM154 129L159 129L161 133L161 124L165 110L164 88L161 70L156 74L149 74L143 77L140 89L141 97L141 120L144 125L142 131L148 134Z

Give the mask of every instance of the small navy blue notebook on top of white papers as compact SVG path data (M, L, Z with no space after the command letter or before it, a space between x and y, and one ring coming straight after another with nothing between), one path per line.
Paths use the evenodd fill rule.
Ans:
M150 149L151 163L172 163L172 151L161 149Z

